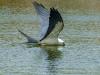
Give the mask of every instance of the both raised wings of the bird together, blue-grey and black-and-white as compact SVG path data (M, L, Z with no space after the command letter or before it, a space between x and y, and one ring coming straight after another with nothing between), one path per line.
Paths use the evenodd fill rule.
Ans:
M58 38L64 27L63 19L57 9L50 8L50 12L42 5L33 2L35 9L40 16L40 41L46 38Z

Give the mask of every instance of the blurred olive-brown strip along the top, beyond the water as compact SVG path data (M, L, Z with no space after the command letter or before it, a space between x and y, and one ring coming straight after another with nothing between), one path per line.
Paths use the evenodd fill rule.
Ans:
M59 9L94 10L100 11L100 0L37 0L46 6L56 6ZM0 0L0 7L29 8L32 0Z

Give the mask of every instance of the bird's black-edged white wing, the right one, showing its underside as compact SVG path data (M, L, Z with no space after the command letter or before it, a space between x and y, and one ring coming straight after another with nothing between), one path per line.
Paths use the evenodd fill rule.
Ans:
M63 19L57 9L50 8L49 27L45 36L41 39L57 39L64 27Z

